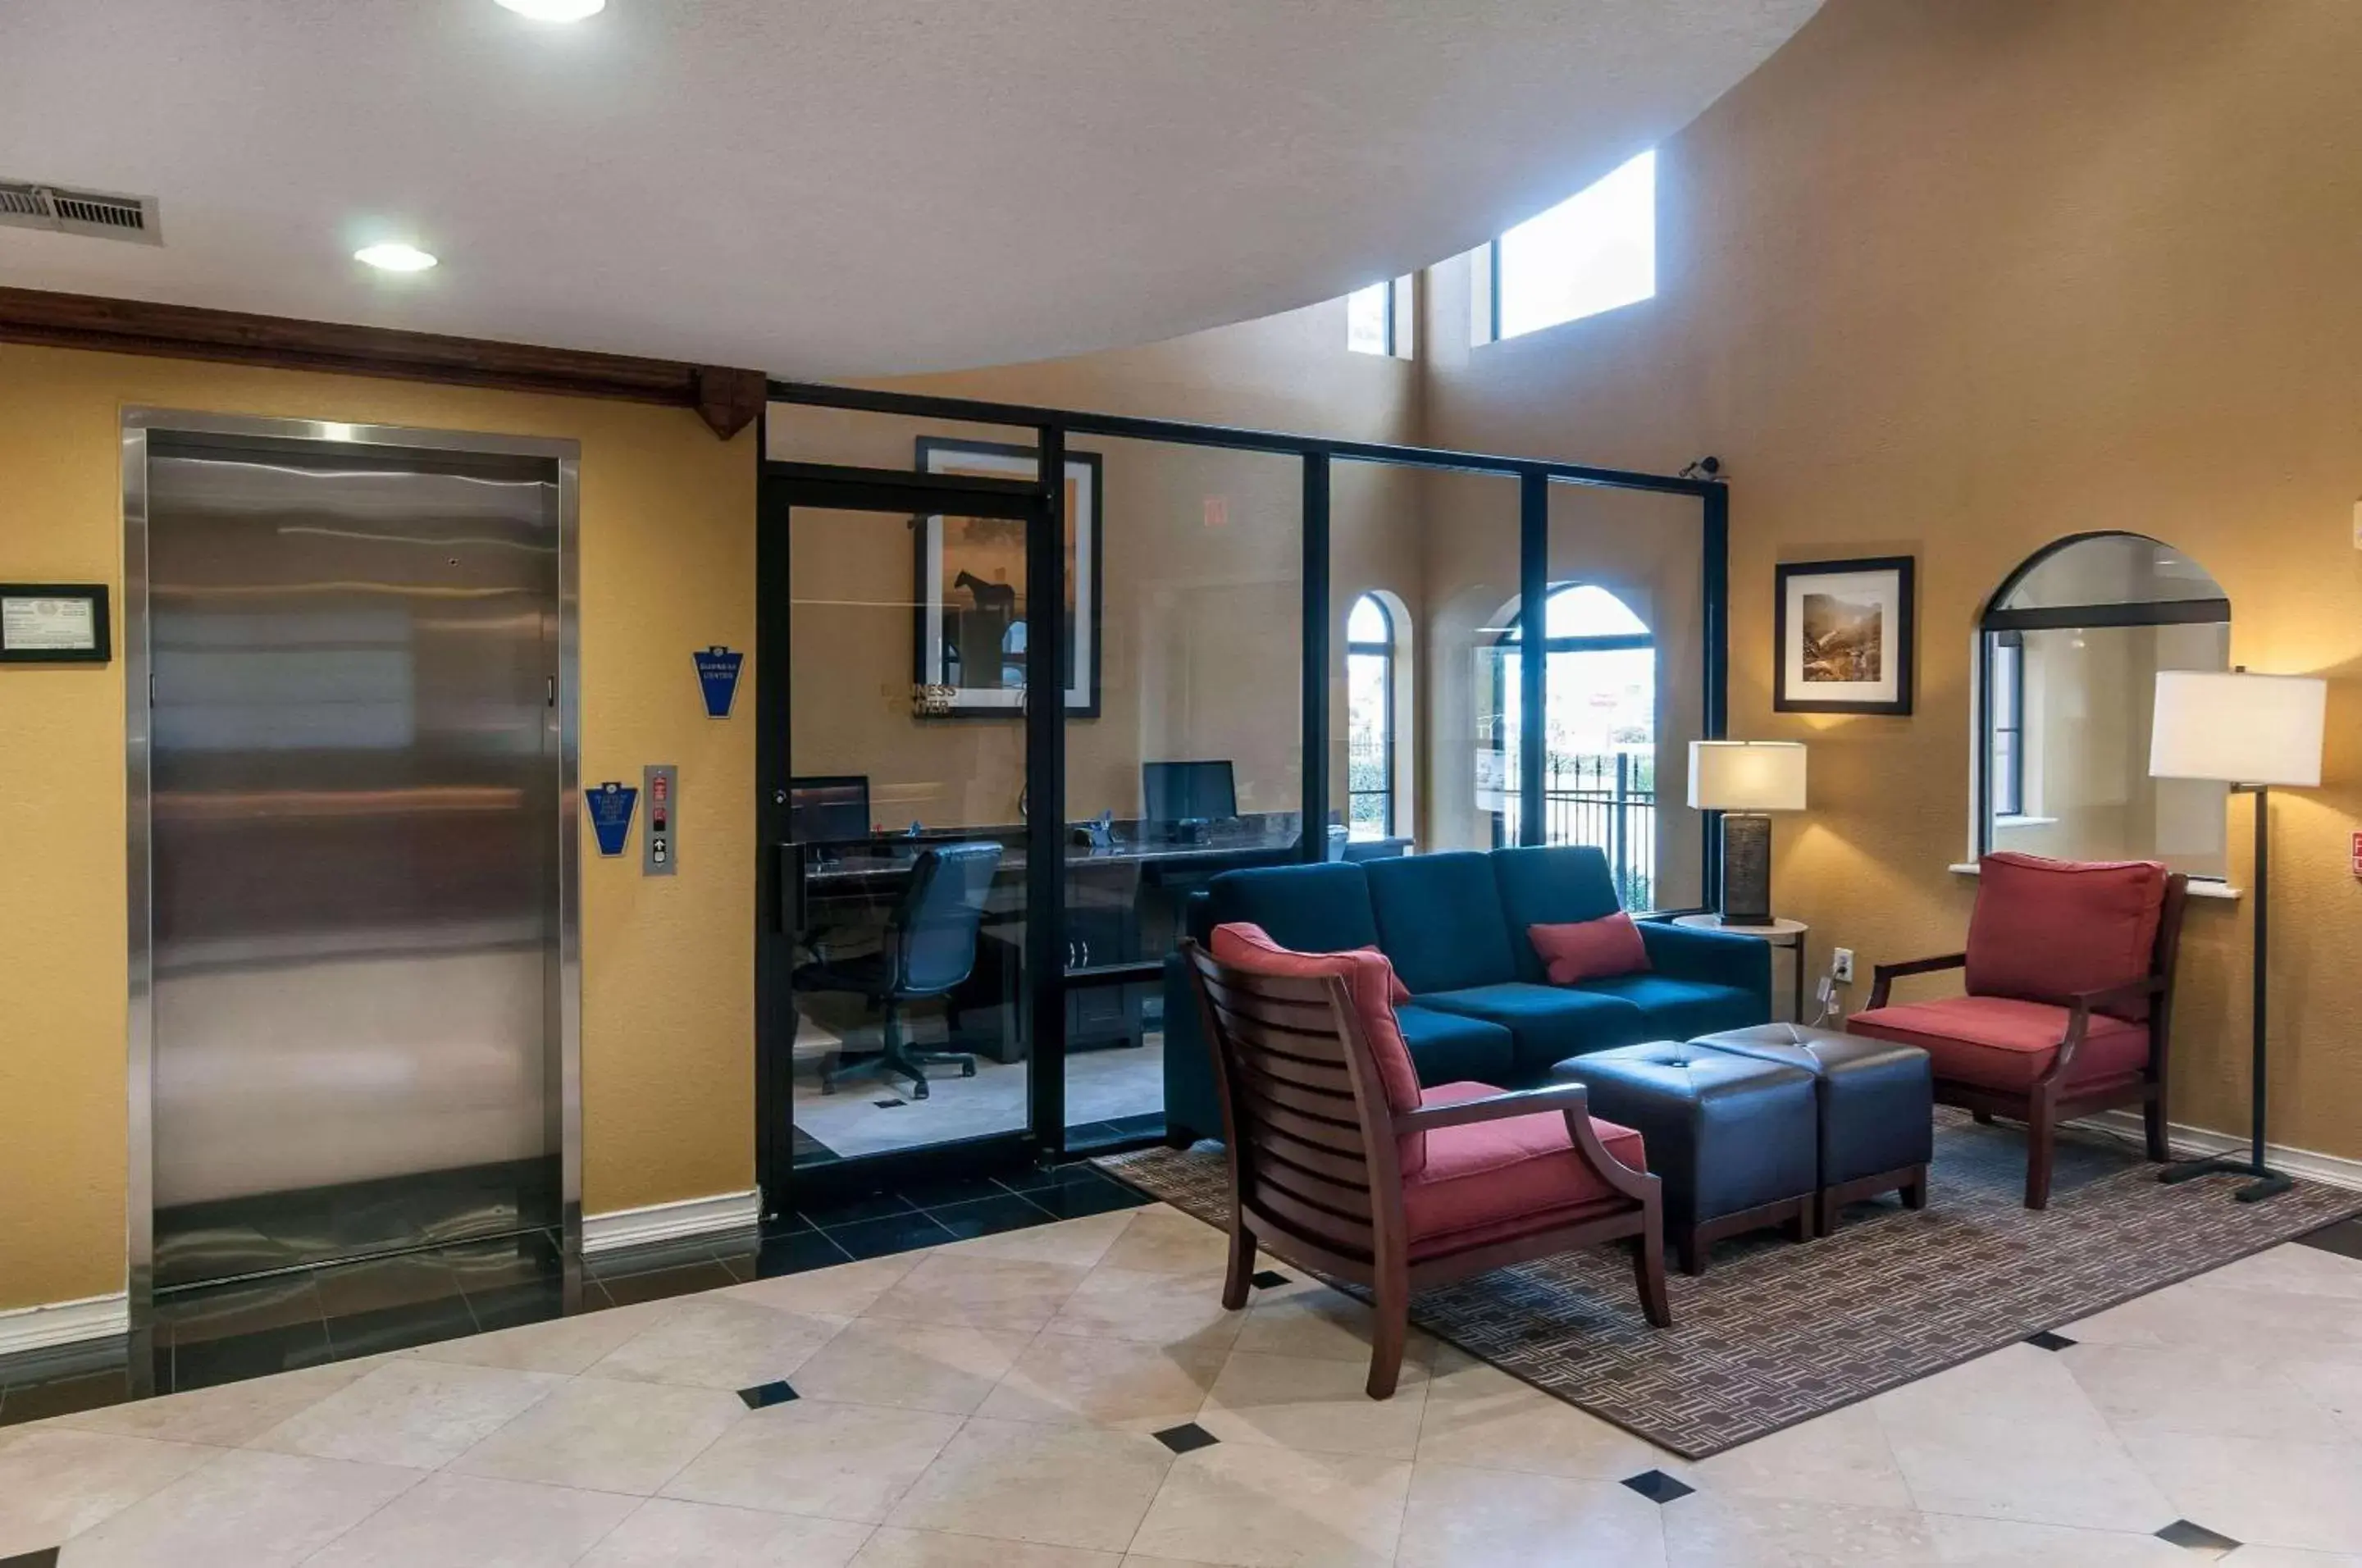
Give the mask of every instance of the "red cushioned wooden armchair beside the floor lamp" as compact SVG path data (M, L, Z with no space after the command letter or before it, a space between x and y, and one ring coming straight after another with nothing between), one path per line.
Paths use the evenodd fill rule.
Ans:
M2166 1039L2190 878L2149 860L1986 855L1968 952L1880 963L1854 1034L1927 1051L1934 1098L2027 1124L2027 1207L2050 1202L2060 1122L2138 1105L2166 1159ZM1965 997L1892 1001L1904 975L1965 971Z

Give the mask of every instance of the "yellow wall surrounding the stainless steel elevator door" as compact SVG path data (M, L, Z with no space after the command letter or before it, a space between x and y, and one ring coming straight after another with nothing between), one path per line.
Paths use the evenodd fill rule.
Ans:
M123 595L125 406L581 442L583 779L680 765L680 874L583 831L583 1207L751 1185L753 437L678 409L0 345L0 579ZM751 661L749 661L751 682ZM0 671L0 1308L123 1289L123 659Z

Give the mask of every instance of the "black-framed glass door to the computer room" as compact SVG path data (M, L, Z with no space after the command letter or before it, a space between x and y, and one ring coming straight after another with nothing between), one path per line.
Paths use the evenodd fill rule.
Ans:
M1058 966L1027 718L1051 505L1025 479L768 465L756 1105L765 1209L1032 1159ZM1053 619L1053 616L1049 616ZM1051 737L1053 739L1053 737ZM1053 893L1056 895L1056 893ZM1046 980L1049 985L1037 985ZM1051 1008L1053 1011L1053 1008Z

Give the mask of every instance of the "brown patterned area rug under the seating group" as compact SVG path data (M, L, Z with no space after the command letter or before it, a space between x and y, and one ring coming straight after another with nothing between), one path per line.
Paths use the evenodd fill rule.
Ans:
M1214 1145L1098 1164L1226 1223ZM1868 1202L1805 1247L1779 1233L1724 1242L1703 1280L1672 1275L1672 1329L1639 1315L1623 1247L1446 1285L1412 1299L1410 1318L1703 1459L2362 1211L2362 1195L2310 1181L2263 1204L2232 1202L2234 1176L2168 1188L2135 1148L2100 1133L2060 1136L2043 1214L2022 1207L2024 1171L2020 1129L1939 1110L1923 1211Z

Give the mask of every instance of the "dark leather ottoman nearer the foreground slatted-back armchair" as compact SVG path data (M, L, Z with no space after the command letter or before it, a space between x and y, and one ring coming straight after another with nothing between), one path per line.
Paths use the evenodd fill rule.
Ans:
M1819 1117L1802 1067L1660 1039L1571 1056L1549 1077L1639 1131L1682 1273L1705 1273L1705 1249L1741 1230L1786 1223L1812 1240Z

